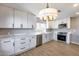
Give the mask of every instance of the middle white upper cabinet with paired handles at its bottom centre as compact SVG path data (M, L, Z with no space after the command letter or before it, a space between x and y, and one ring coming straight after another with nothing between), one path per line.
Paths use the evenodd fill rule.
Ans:
M27 28L27 15L25 12L15 10L14 28Z

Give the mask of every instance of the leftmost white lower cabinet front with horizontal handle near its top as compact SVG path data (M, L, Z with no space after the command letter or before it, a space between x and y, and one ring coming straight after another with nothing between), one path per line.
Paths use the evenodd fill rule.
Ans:
M14 54L14 39L3 38L1 40L1 54L2 55L13 55Z

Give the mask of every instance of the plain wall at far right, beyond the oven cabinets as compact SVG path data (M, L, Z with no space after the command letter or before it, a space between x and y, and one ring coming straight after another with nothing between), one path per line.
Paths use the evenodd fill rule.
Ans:
M71 42L79 44L79 17L71 18Z

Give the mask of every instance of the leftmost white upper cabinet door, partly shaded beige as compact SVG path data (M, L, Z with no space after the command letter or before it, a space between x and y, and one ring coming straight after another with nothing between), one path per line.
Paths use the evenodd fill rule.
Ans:
M13 9L0 6L0 28L13 28Z

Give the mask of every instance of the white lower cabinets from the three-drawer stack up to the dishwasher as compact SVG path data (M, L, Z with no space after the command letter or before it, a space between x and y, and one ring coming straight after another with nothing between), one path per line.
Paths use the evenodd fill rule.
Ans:
M28 51L36 46L35 36L17 36L15 37L15 54Z

